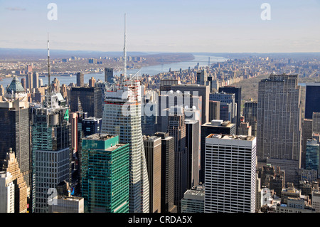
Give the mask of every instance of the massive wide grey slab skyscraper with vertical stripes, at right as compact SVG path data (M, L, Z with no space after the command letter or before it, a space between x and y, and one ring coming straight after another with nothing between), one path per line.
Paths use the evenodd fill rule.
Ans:
M298 75L270 75L261 80L257 107L257 158L294 179L301 162L301 102ZM292 169L294 167L294 169Z

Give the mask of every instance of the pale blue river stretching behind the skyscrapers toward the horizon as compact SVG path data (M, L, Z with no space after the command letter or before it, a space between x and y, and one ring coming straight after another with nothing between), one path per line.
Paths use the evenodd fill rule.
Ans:
M169 69L171 68L172 71L176 70L185 70L190 68L194 68L198 63L200 66L207 66L208 65L208 60L210 57L210 63L217 63L217 62L223 62L225 60L228 60L227 58L223 57L216 57L216 56L203 56L203 55L193 55L194 59L193 60L188 60L188 61L181 61L177 63L170 63L170 64L163 64L163 65L149 65L149 66L144 66L141 68L139 75L142 74L148 74L148 75L156 75L158 73L165 73L169 72ZM132 74L134 75L137 73L139 69L132 69L132 70L127 70L127 74ZM120 75L122 71L119 72L114 72L114 75ZM94 77L96 80L105 80L105 73L88 73L85 74L85 83L89 82L89 79L91 77ZM25 78L25 76L19 76L18 77L20 80L21 78ZM43 85L46 85L47 83L47 78L43 78ZM52 80L54 78L57 78L60 81L60 85L65 84L69 85L70 83L77 83L77 76L52 76ZM7 85L11 83L12 78L4 78L3 80L0 81L0 85L3 85L4 88L6 88Z

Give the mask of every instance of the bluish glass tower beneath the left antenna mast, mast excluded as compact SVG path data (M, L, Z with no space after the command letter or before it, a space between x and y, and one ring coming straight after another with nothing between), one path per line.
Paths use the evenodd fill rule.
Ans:
M69 108L60 93L46 95L31 107L33 211L48 213L48 190L71 179Z

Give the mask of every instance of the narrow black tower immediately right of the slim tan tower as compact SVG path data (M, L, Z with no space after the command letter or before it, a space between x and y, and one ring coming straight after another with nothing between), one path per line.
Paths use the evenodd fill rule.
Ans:
M161 137L161 213L176 213L174 206L174 137L156 132Z

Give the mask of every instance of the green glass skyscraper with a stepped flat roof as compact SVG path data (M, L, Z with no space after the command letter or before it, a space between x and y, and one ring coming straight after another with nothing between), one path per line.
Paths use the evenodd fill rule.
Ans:
M129 144L92 134L82 139L81 157L85 213L129 213Z

